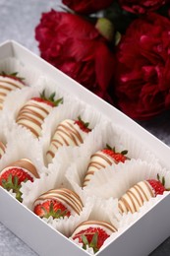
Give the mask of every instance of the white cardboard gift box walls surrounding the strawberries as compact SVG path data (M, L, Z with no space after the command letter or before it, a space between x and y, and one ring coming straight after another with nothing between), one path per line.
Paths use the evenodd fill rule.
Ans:
M85 90L75 82L28 49L15 41L7 41L0 45L0 59L15 57L24 66L37 70L54 81L61 91L69 93L75 100L81 99L85 104L101 113L103 119L113 122L141 142L155 156L163 168L170 170L170 149L157 138L144 130L131 118ZM33 79L32 79L33 81ZM72 100L71 100L72 101ZM13 195L0 187L0 222L5 224L16 235L23 239L39 255L85 256L91 255L71 239L65 237L55 228L35 216L25 205L18 202ZM170 234L170 197L169 193L161 196L148 211L135 222L128 224L118 235L99 250L99 256L132 256L148 255Z

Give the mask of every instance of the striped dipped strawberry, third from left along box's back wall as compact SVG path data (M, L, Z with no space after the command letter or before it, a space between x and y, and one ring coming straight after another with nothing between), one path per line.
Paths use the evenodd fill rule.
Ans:
M79 116L77 120L66 119L56 128L52 137L49 150L47 151L47 161L51 162L58 148L63 146L80 146L84 143L86 135L91 131Z

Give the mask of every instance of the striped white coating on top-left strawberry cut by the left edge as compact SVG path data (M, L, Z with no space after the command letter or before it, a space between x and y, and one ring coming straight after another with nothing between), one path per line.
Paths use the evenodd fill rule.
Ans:
M13 90L22 89L25 85L19 80L15 80L0 75L0 110L3 109L5 97Z

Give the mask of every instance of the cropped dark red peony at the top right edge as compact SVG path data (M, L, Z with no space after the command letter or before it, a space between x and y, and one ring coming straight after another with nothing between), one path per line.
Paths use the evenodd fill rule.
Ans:
M139 14L157 10L167 1L169 0L119 0L123 9Z

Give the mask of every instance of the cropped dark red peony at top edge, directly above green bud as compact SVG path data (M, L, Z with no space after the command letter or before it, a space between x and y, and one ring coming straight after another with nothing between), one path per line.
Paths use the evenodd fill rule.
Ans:
M114 0L63 0L62 2L78 13L91 14L109 7L113 1Z

